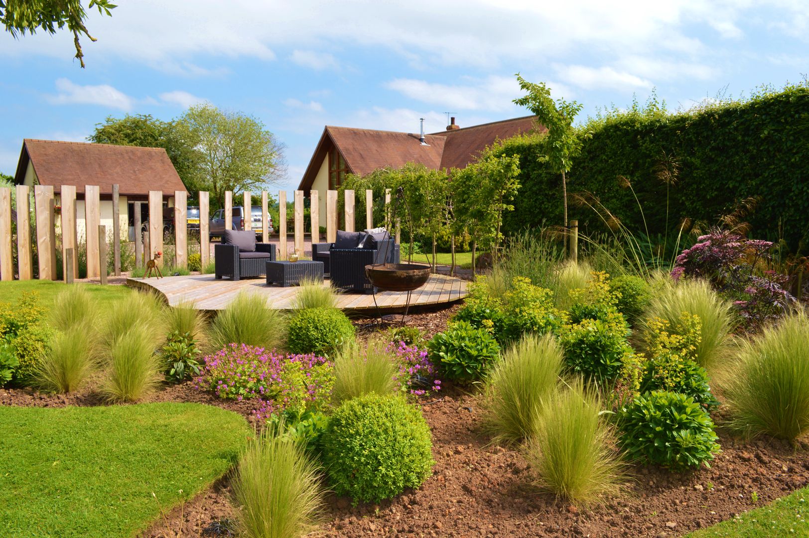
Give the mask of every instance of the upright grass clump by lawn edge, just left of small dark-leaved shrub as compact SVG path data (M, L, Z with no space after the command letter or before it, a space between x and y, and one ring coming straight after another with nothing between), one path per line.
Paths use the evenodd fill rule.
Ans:
M146 324L136 324L113 341L109 371L100 391L105 399L138 401L157 387L162 369L150 330Z

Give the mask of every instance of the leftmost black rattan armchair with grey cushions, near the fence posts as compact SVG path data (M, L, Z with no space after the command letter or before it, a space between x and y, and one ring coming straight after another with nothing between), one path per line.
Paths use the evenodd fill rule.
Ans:
M254 231L226 230L222 244L214 245L215 277L260 277L268 261L275 261L275 245L256 243Z

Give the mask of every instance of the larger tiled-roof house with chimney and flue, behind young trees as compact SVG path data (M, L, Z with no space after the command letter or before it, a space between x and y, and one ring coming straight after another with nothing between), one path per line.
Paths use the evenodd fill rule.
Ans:
M493 121L460 128L451 118L447 129L422 136L417 133L354 129L326 125L303 173L299 190L337 189L346 174L365 176L380 168L399 168L420 163L434 169L464 168L477 159L486 146L498 140L532 130L544 131L536 116ZM325 197L320 197L320 214L325 214Z

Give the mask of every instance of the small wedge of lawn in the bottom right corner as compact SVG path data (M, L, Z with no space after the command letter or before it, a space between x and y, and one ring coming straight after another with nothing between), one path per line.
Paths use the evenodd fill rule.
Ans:
M798 489L769 505L744 512L734 519L717 523L713 527L693 532L688 536L690 538L809 536L807 504L809 504L809 488Z

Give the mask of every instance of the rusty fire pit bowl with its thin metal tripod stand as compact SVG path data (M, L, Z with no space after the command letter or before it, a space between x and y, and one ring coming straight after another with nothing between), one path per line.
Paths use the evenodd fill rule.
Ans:
M396 201L393 202L393 210L388 215L391 222L386 222L386 224L392 224L393 216L396 215L396 210L399 207L400 202L404 202L404 209L406 210L407 215L407 222L410 231L410 252L413 252L413 218L410 215L410 208L407 203L407 200L404 199L404 189L400 187L396 190ZM388 226L388 230L392 228ZM383 256L383 260L388 260L388 250L392 248L392 241L385 242L385 252ZM407 313L410 309L410 297L413 294L413 290L417 290L421 286L424 286L427 279L430 278L430 266L429 265L421 265L421 264L391 264L391 263L382 263L382 264L372 264L365 266L365 276L374 286L374 305L376 307L376 311L379 314L379 320L382 320L382 311L379 309L379 304L376 303L376 289L383 291L406 291L407 292L407 300L404 303L404 314L402 315L402 321L407 317Z

